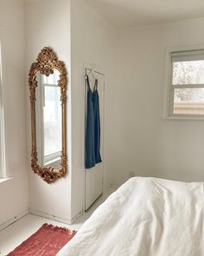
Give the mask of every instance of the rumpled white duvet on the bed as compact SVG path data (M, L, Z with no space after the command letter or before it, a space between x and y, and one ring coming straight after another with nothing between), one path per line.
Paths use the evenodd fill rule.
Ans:
M58 256L204 256L204 183L131 178Z

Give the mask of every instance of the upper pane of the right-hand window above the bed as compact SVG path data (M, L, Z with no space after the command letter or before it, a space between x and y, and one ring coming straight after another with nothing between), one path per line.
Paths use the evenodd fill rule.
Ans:
M204 83L204 60L173 62L173 84Z

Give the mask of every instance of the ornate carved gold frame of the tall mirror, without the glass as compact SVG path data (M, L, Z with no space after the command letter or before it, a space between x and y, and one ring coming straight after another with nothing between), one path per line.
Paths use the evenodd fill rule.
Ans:
M67 70L64 62L58 61L53 49L44 47L37 56L37 62L31 65L29 70L29 90L30 90L30 111L31 111L31 167L35 174L41 176L43 181L52 183L67 174L67 143L66 143L66 102L67 102ZM35 76L37 72L42 75L54 73L54 69L60 72L58 86L61 88L61 113L62 113L62 150L61 150L61 169L52 167L40 167L38 165L36 148L36 129L35 129L35 89L37 82Z

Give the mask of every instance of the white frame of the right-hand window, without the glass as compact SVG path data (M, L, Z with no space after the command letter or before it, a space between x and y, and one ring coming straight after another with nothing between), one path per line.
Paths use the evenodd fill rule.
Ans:
M171 61L172 53L184 52L184 51L198 51L204 50L204 44L193 45L193 46L182 46L167 48L165 53L165 77L164 77L164 96L163 96L163 118L164 119L179 119L179 120L204 120L204 115L188 115L188 114L173 114L174 98L171 93L173 88L180 88L179 86L172 85L172 71L173 65ZM199 85L185 85L185 88L204 88L204 84Z

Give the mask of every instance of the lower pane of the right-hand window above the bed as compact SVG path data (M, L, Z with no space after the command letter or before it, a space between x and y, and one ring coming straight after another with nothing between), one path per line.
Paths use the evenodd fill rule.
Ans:
M204 89L175 89L174 114L204 115Z

